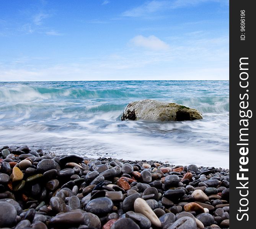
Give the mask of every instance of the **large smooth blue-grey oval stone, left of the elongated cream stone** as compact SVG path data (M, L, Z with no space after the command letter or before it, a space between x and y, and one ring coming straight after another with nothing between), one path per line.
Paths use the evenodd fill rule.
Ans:
M91 200L85 207L86 211L102 215L107 214L113 209L113 202L107 197L100 197L94 200Z

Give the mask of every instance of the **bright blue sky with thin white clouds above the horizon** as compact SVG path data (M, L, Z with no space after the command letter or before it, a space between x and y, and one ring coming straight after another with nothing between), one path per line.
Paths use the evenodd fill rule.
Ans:
M3 0L0 81L228 80L227 0Z

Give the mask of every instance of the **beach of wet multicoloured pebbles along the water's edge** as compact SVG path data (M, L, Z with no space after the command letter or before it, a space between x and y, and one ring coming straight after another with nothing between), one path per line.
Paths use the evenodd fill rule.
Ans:
M229 228L229 169L28 147L3 147L0 164L0 227Z

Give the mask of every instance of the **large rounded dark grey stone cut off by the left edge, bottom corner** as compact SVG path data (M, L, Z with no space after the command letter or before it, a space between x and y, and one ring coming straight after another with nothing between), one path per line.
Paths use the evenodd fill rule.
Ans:
M0 202L0 227L13 226L17 216L16 208L8 202Z

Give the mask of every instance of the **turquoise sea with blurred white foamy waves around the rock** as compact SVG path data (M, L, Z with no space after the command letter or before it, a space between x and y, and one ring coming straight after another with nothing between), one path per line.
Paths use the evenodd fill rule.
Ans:
M142 99L196 108L194 121L121 121ZM0 82L0 147L229 168L229 81Z

